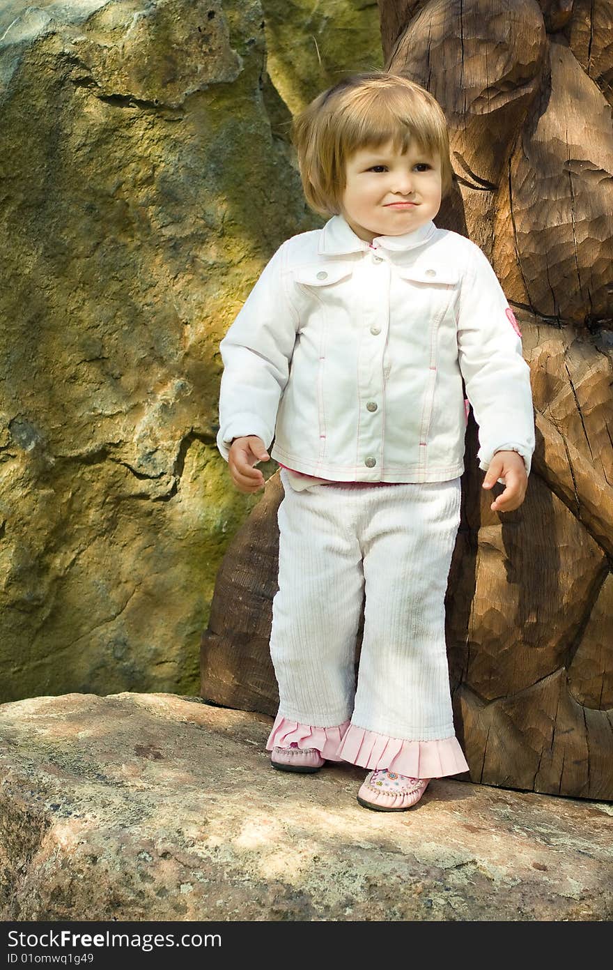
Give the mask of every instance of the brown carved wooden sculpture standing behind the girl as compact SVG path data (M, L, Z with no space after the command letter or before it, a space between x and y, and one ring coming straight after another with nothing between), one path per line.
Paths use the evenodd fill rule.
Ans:
M380 13L387 69L449 123L457 181L436 223L489 257L536 407L516 512L491 512L472 419L467 432L446 604L458 736L473 781L612 799L613 0L380 0ZM267 713L277 479L252 516L265 568L255 548L245 565L248 523L228 554L248 581L237 589L224 563L202 641L202 695Z

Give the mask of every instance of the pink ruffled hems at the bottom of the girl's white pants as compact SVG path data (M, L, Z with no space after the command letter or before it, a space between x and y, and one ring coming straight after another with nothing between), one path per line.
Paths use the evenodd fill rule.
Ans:
M411 778L444 778L469 770L455 735L407 741L356 727L351 721L337 727L311 727L277 714L266 751L289 747L292 742L298 748L315 748L327 761L349 761L371 770L388 768Z

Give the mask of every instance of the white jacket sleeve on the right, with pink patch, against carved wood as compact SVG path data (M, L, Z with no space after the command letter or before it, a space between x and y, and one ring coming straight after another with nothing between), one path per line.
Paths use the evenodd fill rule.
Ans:
M498 277L471 243L457 315L458 361L478 425L479 468L497 451L517 451L530 474L535 419L530 368L519 330ZM502 479L499 479L502 481Z

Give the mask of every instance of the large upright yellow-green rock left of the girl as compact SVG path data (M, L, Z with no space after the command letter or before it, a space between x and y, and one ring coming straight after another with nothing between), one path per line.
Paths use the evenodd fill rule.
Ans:
M259 501L215 447L219 340L320 224L261 5L9 0L0 108L0 696L196 693Z

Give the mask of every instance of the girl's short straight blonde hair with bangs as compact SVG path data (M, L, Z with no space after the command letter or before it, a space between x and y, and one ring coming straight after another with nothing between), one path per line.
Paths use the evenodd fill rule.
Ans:
M341 210L346 162L360 148L391 141L405 152L415 141L441 157L443 197L453 169L443 109L425 87L386 71L353 74L315 98L291 126L302 187L308 204L322 215Z

